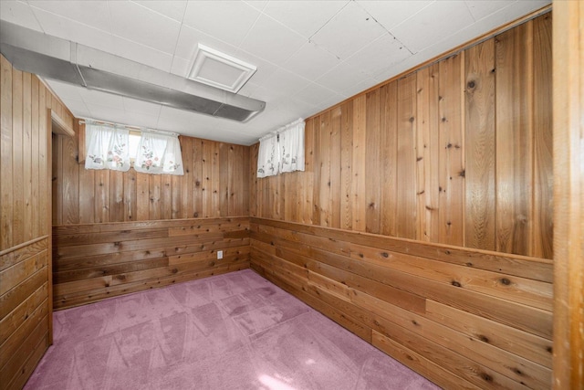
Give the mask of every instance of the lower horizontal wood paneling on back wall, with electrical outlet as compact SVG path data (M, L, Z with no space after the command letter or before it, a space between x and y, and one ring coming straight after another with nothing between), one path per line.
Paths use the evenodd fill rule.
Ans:
M248 217L53 227L54 306L246 269L249 252Z

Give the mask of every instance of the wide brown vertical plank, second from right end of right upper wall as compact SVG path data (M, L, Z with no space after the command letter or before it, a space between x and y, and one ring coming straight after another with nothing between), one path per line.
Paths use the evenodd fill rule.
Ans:
M532 22L496 37L496 250L530 254Z

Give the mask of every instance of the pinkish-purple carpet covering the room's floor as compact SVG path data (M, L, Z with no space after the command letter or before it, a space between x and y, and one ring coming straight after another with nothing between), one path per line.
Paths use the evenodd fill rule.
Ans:
M242 271L54 313L26 389L437 389Z

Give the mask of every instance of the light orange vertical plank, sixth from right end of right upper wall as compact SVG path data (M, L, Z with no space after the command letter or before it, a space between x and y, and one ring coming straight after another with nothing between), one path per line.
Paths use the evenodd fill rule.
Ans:
M398 80L397 237L416 238L416 75Z

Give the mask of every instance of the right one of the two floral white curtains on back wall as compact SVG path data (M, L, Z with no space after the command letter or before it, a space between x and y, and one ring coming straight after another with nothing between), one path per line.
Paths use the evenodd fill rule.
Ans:
M178 135L143 131L134 169L147 174L184 174Z

